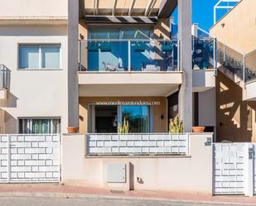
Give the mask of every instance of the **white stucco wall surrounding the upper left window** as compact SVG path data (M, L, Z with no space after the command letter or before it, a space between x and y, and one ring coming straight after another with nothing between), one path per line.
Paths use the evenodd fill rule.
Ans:
M13 2L13 1L10 1ZM51 9L51 8L49 8ZM60 44L60 69L18 69L18 44ZM0 62L11 70L5 111L6 133L17 132L17 117L61 117L67 127L67 26L0 26Z

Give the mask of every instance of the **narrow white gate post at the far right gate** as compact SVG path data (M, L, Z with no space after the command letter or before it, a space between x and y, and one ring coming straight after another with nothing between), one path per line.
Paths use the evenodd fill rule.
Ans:
M254 196L254 145L244 146L244 194Z

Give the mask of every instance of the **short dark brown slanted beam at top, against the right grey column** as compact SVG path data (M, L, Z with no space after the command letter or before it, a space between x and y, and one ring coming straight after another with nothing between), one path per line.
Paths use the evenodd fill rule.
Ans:
M177 0L162 0L159 6L158 17L168 18L171 16L171 13L176 8L178 2Z

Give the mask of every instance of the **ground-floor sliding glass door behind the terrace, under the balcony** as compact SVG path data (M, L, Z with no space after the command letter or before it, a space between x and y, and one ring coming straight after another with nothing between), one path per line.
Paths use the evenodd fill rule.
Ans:
M89 108L89 132L116 133L124 119L128 121L129 133L152 132L152 113L147 105L91 105Z

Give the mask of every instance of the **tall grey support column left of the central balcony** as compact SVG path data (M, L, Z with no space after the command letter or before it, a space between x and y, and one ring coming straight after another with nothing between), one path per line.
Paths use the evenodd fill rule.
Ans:
M68 0L68 126L79 125L78 90L79 0Z

